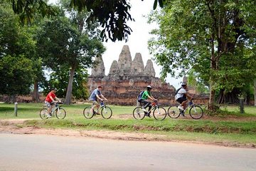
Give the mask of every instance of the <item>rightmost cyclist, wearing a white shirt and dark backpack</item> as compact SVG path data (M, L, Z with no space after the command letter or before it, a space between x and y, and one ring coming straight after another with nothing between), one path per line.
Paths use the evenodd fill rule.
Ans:
M176 101L180 103L180 105L178 105L178 108L181 110L186 109L186 103L188 102L188 100L192 99L191 95L188 95L186 88L187 88L187 84L181 83L181 88L177 90L177 94L175 96Z

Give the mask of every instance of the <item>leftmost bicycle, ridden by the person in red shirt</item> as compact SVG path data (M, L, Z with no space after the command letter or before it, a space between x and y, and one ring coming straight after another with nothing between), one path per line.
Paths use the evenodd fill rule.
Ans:
M53 116L53 117L55 115L56 118L58 118L58 119L64 119L67 113L66 113L65 109L63 109L59 104L63 104L63 103L60 103L60 102L55 103L55 106L52 108L52 110L50 110L49 114L50 114L50 116ZM48 110L48 108L46 108L46 106L44 106L40 110L39 115L43 120L48 119L47 110Z

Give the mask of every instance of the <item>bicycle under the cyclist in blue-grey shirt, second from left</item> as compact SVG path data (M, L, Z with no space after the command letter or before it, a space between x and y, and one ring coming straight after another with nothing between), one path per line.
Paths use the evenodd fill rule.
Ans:
M100 108L101 108L100 114L98 114L94 109L91 112L92 106L91 107L86 107L83 110L83 115L85 116L85 118L90 119L95 115L102 115L102 118L105 118L105 119L110 119L111 118L112 109L110 107L108 107L107 105L105 105L103 101L100 102Z

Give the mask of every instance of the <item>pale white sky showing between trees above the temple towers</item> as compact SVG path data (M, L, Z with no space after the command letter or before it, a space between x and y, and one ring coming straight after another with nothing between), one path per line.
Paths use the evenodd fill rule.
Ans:
M57 0L50 0L50 3L55 2ZM119 54L122 51L122 47L124 45L129 46L129 50L132 55L132 60L135 57L135 53L142 53L142 59L144 62L144 66L146 66L146 61L148 59L152 59L153 56L149 54L149 49L147 48L147 41L151 37L149 31L151 29L156 28L156 24L147 24L147 19L143 16L149 14L149 12L153 9L154 0L131 0L132 8L130 14L135 19L135 21L129 21L128 26L132 28L132 33L129 36L129 40L125 41L108 41L104 42L107 51L102 55L102 59L105 64L105 74L107 75L110 71L110 66L112 61L118 61ZM153 60L152 60L153 61ZM161 66L157 66L153 61L154 69L156 71L156 77L160 77ZM171 78L168 76L166 78L166 82L170 83L174 87L178 88L178 83L182 81L182 78Z

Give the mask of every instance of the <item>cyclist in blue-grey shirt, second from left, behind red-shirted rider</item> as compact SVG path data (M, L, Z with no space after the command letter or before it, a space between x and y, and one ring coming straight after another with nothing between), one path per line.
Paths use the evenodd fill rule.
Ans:
M90 110L91 113L93 113L93 110L97 108L96 113L98 113L98 110L100 108L100 104L98 100L107 100L107 98L104 97L101 93L102 86L98 86L95 90L92 91L89 100L92 101L92 108Z

